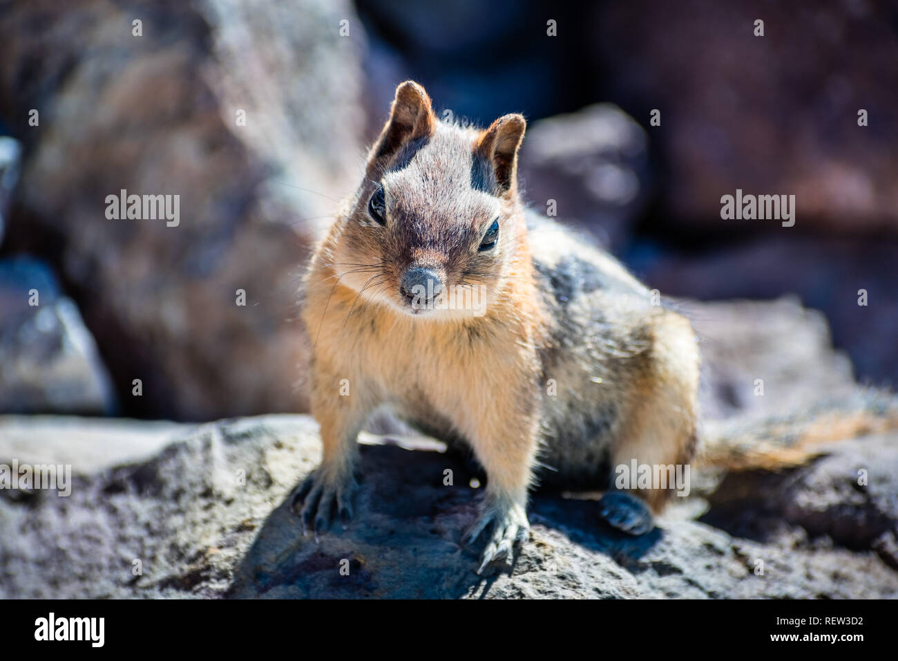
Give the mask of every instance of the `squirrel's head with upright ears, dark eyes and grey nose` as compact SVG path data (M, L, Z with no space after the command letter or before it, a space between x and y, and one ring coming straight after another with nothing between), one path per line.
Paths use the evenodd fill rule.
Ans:
M518 114L437 121L421 85L399 85L334 249L340 282L403 314L482 314L520 268L525 128Z

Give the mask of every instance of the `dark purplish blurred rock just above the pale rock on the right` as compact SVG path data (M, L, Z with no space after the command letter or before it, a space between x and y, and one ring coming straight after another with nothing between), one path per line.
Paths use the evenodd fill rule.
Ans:
M886 387L898 383L898 343L894 341L898 288L893 275L898 242L780 236L690 255L631 251L627 259L640 277L665 295L770 299L790 291L806 308L826 315L832 341L850 356L860 382ZM766 323L748 317L741 320L747 332L757 334L763 333ZM778 341L791 343L798 355L804 353L788 335ZM795 360L785 353L783 357ZM817 371L811 362L806 367Z

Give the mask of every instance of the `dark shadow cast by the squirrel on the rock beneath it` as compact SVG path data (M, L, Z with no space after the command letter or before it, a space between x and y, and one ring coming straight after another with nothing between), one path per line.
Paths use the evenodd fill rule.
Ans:
M486 596L508 571L550 571L539 538L555 529L574 544L608 553L632 567L662 538L655 530L628 537L603 528L596 504L560 496L537 496L531 505L533 539L511 567L475 571L482 540L462 549L462 533L474 521L480 488L470 462L454 453L363 445L356 517L316 536L304 535L287 496L262 523L234 571L232 598L458 598ZM447 470L453 486L444 485ZM476 483L475 483L476 484Z

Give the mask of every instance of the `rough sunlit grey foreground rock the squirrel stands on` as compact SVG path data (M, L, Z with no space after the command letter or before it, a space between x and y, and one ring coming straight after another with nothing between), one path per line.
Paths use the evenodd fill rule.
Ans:
M321 456L307 416L149 428L0 418L0 463L74 464L70 496L0 490L0 597L898 597L898 398L866 397L844 371L824 379L841 359L827 355L819 317L791 301L741 313L690 307L710 355L724 360L728 348L740 357L719 372L741 382L767 366L771 393L788 378L796 388L735 415L721 406L728 416L711 421L708 442L726 446L744 425L779 451L815 442L818 459L722 474L697 464L693 493L674 498L641 537L600 523L597 494L537 492L533 536L513 569L478 576L477 549L459 541L483 476L433 440L363 434L357 517L316 540L290 506ZM805 353L771 371L777 345L742 328L754 317L789 329ZM791 371L804 361L819 361L820 371ZM845 388L828 392L836 380ZM814 384L828 396L806 410ZM117 436L127 442L112 454ZM72 442L58 442L65 437ZM75 444L92 451L73 454ZM446 469L453 486L444 485Z

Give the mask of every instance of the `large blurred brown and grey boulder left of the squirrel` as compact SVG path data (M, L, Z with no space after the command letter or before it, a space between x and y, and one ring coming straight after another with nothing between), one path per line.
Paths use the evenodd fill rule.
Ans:
M0 116L25 146L5 249L57 267L124 413L304 408L298 280L357 184L362 36L322 0L4 10ZM179 195L177 226L108 219L121 190Z

